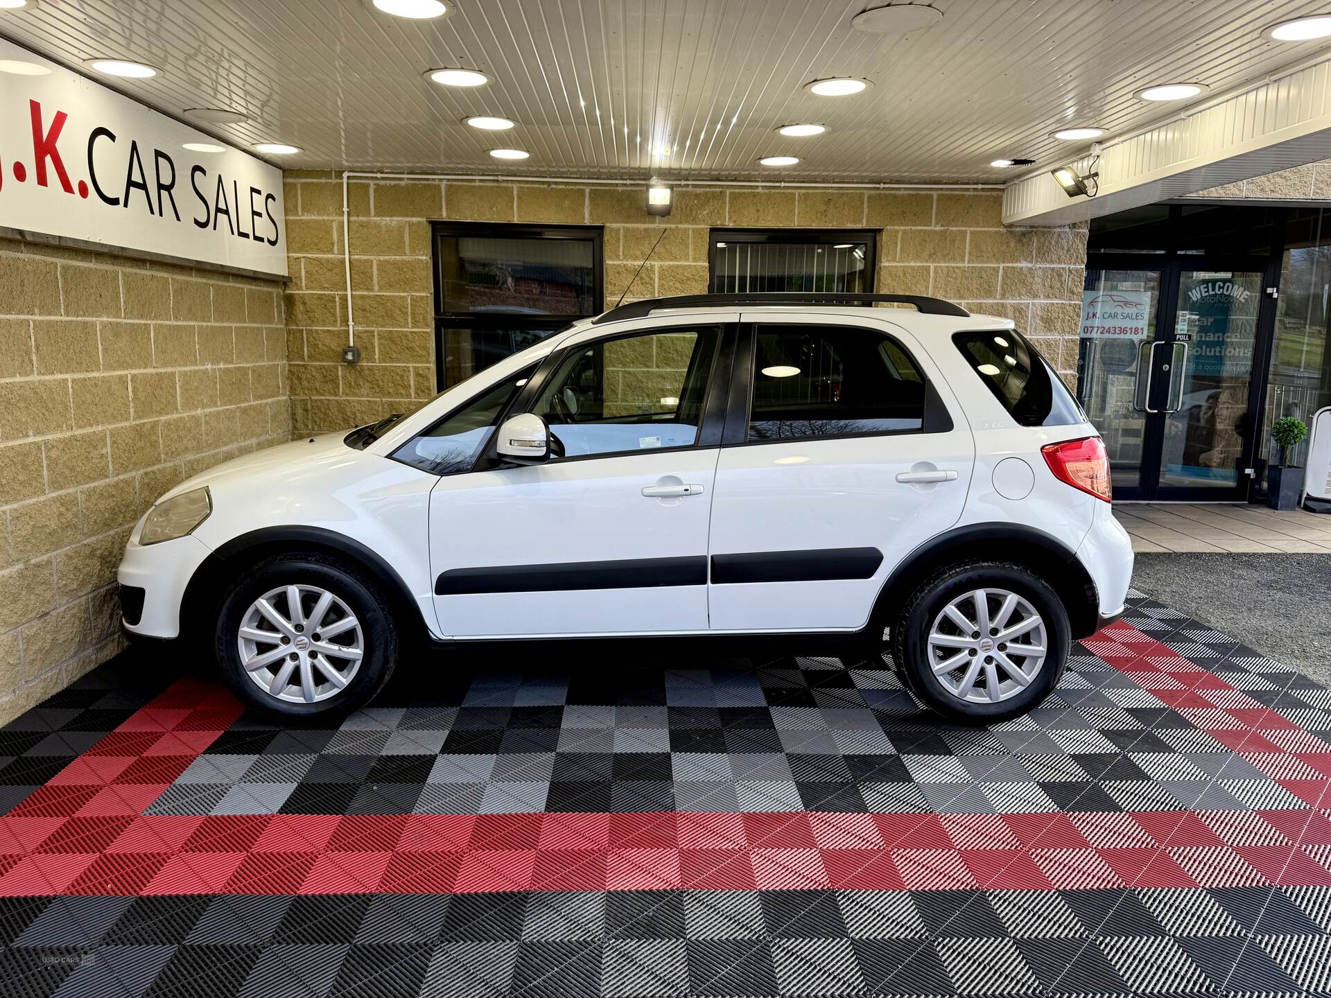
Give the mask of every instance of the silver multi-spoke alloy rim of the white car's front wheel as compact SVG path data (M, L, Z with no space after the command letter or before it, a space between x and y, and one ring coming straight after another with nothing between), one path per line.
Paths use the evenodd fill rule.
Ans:
M318 585L282 585L250 603L237 635L254 685L291 704L337 696L365 657L355 613Z

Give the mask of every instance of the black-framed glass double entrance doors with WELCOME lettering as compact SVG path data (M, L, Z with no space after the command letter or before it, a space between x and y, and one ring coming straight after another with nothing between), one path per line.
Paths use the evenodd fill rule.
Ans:
M1247 261L1087 269L1078 397L1115 499L1247 499L1274 286Z

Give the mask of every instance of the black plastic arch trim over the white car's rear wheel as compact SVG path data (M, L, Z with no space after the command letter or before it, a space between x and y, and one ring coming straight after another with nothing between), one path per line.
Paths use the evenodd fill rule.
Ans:
M1037 548L1040 555L1032 559L1029 552L1018 548L1014 552L1004 552L1001 555L989 551L985 554L986 559L1018 563L1030 563L1032 560L1057 563L1063 570L1059 572L1062 578L1045 579L1045 582L1063 600L1071 623L1073 637L1087 637L1095 632L1099 623L1099 596L1090 574L1077 559L1077 552L1057 538L1020 523L970 523L964 527L953 527L917 547L906 555L901 564L893 568L886 582L884 582L878 592L878 600L874 604L873 619L866 629L872 632L873 625L882 619L881 612L885 607L892 607L901 601L904 597L901 592L904 585L918 582L921 575L928 575L936 566L945 564L949 560L948 555L950 552L996 540L1029 544Z

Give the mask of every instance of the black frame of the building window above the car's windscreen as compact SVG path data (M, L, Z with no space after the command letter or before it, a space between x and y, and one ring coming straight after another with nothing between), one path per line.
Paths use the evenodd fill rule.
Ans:
M504 311L445 311L443 275L439 271L439 242L446 238L531 238L590 241L592 266L592 311L563 315L530 315ZM445 329L531 329L552 335L578 319L599 315L606 309L606 228L602 225L523 225L520 222L431 222L430 269L434 281L434 383L435 391L447 391L445 382ZM484 370L484 369L482 369Z

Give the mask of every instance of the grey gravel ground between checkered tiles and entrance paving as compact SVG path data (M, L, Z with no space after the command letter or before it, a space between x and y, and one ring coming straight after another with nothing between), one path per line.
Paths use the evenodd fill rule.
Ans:
M1133 588L1331 685L1331 555L1141 554Z

